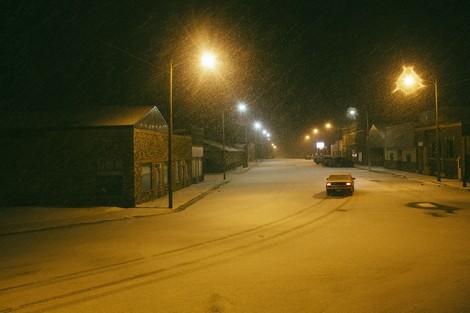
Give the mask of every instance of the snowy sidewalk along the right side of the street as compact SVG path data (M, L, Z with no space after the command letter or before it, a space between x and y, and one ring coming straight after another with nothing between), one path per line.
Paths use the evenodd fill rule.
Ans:
M366 171L369 169L367 165L356 164L355 167L366 170ZM387 169L387 168L379 167L379 166L371 166L370 170L372 172L388 173L391 175L395 175L395 176L399 176L399 177L403 177L403 178L407 178L411 180L416 180L416 181L420 181L423 183L436 184L436 185L447 187L447 188L470 191L470 182L467 182L467 187L463 187L462 181L458 179L450 179L450 178L442 177L441 181L438 182L436 176L431 176L431 175L391 170L391 169Z

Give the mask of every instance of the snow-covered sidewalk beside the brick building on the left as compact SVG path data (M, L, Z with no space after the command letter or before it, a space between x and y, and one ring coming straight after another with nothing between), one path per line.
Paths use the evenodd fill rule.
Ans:
M228 173L239 174L248 169L239 167ZM229 181L224 181L222 174L206 174L203 182L173 192L173 209L168 208L168 195L135 208L0 207L0 236L174 213Z

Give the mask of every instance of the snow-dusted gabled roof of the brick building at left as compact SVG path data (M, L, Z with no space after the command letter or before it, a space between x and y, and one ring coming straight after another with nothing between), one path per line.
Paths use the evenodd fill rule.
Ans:
M0 115L0 128L4 129L114 126L167 131L166 121L155 106L93 106L2 112Z

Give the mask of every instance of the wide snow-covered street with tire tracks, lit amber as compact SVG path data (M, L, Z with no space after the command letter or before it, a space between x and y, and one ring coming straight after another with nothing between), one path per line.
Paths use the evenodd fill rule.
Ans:
M469 312L470 198L268 160L175 214L0 237L0 312Z

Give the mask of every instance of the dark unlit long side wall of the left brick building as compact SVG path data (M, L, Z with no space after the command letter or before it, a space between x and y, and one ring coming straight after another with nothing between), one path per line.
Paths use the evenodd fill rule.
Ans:
M132 128L35 130L2 138L2 186L18 205L133 204ZM130 170L129 170L130 169ZM100 188L106 178L120 192ZM105 185L106 187L106 185Z

